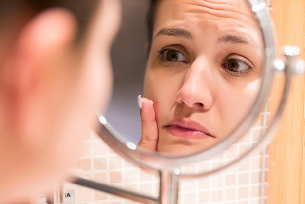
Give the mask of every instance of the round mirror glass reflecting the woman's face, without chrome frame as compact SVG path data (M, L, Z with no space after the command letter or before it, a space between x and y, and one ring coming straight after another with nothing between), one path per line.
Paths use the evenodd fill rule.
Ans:
M152 9L148 0L123 1L105 116L137 149L199 152L234 131L256 100L265 60L260 25L246 1L155 2Z

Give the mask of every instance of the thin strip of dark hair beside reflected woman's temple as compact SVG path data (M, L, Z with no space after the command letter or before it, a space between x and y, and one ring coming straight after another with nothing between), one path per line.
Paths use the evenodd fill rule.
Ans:
M161 0L150 0L150 5L147 13L147 37L148 37L148 50L151 48L152 44L152 30L155 21L155 14L158 7L158 4Z

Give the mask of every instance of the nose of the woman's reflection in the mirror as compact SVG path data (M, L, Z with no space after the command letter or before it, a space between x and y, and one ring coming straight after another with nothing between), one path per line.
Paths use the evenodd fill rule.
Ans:
M194 61L177 93L176 102L201 111L209 110L213 103L211 78L208 63Z

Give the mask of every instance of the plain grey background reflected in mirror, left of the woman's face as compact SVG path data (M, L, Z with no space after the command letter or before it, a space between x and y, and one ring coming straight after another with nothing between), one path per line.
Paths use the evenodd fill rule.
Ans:
M137 97L143 93L147 59L146 13L148 0L122 0L122 23L112 47L114 90L105 114L108 122L127 141L141 138Z

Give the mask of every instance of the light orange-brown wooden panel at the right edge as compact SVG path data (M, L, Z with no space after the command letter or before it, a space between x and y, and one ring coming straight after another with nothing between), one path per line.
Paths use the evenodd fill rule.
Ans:
M272 4L278 45L299 46L305 60L305 0ZM270 144L268 204L305 204L304 76L294 77L285 115Z

